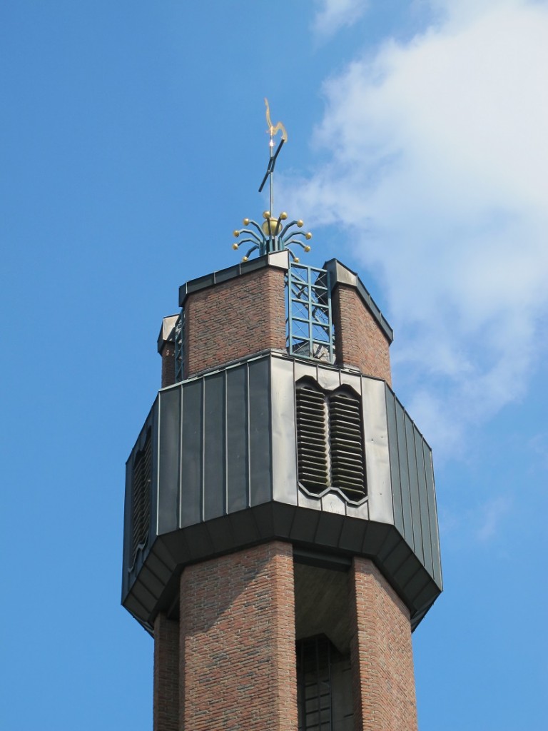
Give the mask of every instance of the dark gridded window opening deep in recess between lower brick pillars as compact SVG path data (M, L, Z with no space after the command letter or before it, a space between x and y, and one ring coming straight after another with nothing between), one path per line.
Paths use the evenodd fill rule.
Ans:
M332 731L331 643L325 635L297 642L299 731Z

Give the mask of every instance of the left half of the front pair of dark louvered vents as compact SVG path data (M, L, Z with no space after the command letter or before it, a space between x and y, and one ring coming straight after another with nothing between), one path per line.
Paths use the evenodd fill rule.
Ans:
M299 480L311 492L329 485L325 396L311 387L297 388L297 461Z

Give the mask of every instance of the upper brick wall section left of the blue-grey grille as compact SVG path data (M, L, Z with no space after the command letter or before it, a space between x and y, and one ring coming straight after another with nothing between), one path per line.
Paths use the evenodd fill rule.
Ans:
M185 302L185 377L286 346L284 272L269 267L194 292Z

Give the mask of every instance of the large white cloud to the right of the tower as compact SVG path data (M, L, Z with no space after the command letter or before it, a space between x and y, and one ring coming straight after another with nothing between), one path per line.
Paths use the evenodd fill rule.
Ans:
M381 275L395 386L428 376L408 406L453 450L524 393L548 316L548 4L435 7L423 34L327 81L329 162L291 205L346 227Z

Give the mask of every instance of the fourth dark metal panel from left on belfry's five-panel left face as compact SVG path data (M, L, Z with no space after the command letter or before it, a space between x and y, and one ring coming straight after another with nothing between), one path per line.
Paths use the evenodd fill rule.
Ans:
M227 512L248 507L247 366L227 370Z

